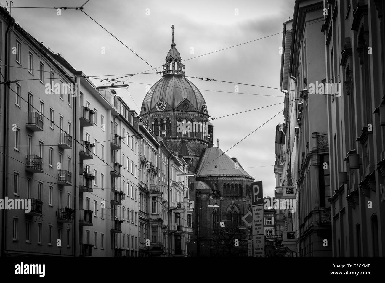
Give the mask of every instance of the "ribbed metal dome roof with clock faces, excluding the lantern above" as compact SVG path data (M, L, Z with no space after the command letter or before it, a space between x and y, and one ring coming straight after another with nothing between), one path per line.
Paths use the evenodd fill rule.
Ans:
M147 92L141 115L173 110L202 112L208 115L206 102L198 88L184 76L168 74Z

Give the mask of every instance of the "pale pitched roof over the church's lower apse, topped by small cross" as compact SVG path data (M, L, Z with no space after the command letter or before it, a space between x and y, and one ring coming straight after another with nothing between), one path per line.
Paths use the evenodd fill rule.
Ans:
M236 167L235 162L219 147L208 147L202 153L196 176L243 176L254 179L242 167Z

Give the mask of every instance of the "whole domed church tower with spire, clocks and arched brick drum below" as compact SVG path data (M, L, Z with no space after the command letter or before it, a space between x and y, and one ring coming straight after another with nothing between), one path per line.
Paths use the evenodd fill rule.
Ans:
M179 155L190 159L190 167L202 150L213 147L213 125L203 95L184 75L184 64L174 42L172 25L171 49L163 64L162 79L147 92L140 116L156 136Z

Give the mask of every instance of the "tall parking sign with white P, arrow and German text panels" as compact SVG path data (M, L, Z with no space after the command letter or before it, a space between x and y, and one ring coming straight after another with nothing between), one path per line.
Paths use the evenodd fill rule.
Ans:
M264 256L262 181L251 183L251 204L253 213L253 256Z

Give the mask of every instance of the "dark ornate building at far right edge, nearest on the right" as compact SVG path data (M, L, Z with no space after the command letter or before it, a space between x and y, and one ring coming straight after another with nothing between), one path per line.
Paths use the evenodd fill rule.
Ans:
M324 1L333 256L384 256L383 1Z

